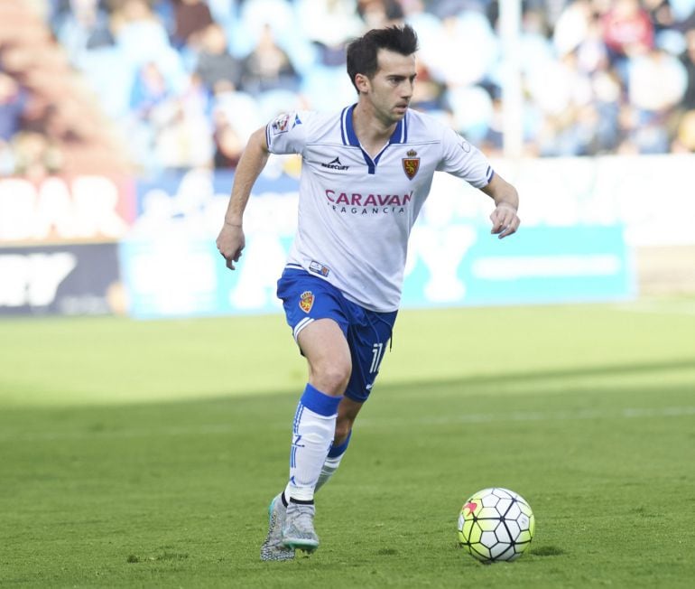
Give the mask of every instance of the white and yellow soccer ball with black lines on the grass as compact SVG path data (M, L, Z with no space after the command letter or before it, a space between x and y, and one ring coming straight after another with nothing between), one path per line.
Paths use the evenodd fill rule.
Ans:
M514 491L493 487L471 495L459 514L459 544L484 563L515 560L531 544L531 506Z

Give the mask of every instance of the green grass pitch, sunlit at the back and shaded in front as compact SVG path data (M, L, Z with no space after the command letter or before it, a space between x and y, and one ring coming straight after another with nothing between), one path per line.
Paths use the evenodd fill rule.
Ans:
M690 587L695 304L403 312L319 551L262 563L305 380L281 316L0 323L0 586ZM469 494L530 552L456 546Z

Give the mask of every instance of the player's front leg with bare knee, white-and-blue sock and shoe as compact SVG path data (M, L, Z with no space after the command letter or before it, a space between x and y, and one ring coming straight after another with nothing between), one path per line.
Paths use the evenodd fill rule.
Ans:
M314 489L336 432L338 405L352 363L345 335L332 319L308 324L297 337L309 365L309 382L292 427L290 481L283 545L311 552L319 546L313 528Z

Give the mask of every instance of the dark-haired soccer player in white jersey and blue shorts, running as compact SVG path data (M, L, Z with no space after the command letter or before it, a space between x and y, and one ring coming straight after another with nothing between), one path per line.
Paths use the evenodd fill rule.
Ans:
M417 36L375 29L347 47L357 103L336 114L283 114L250 137L217 244L227 267L244 248L243 213L268 154L301 154L299 222L278 281L309 379L292 422L290 478L270 505L263 560L319 546L314 493L338 468L374 385L401 298L412 225L440 170L492 197L492 233L519 227L518 195L485 156L409 109Z

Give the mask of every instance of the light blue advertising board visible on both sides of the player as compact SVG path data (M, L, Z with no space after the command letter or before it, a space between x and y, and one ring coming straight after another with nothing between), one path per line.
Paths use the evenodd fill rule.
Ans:
M291 238L247 236L231 272L213 239L139 239L120 246L130 313L154 318L275 313ZM499 240L489 229L426 225L413 232L403 307L605 301L635 295L621 227L526 228Z

